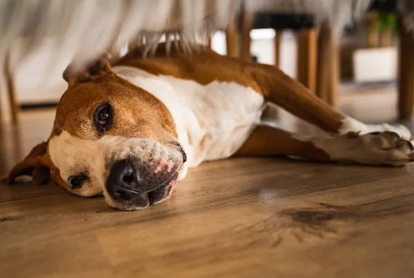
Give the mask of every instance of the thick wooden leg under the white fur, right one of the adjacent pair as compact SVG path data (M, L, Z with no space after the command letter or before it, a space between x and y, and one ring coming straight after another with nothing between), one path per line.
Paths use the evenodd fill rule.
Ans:
M317 96L331 106L337 105L339 86L339 51L333 43L328 23L323 23L318 35Z

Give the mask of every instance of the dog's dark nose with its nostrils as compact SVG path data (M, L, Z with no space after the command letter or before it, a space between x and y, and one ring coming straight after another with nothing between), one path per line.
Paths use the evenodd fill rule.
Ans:
M134 178L134 168L126 160L117 161L108 176L106 190L117 200L130 200L138 194L134 189L137 184Z

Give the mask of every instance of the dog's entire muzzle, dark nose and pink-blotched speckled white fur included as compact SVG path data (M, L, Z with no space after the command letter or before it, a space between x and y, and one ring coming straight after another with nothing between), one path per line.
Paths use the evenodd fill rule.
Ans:
M107 203L122 210L139 210L168 199L186 162L179 143L161 145L149 139L127 143L112 150L107 159Z

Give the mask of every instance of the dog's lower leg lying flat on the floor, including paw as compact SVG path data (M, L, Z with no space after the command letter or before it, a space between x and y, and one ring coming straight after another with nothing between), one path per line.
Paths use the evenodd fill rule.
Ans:
M412 152L411 142L395 132L306 138L271 126L257 126L235 156L295 156L320 162L402 166L412 160Z

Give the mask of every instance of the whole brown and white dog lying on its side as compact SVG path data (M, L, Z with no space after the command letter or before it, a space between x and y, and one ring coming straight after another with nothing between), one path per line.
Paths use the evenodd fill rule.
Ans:
M167 55L162 48L146 59L130 52L112 67L105 59L83 72L69 66L52 134L9 181L52 178L76 195L103 193L112 207L138 210L170 197L187 169L203 161L276 155L389 166L411 161L404 126L347 117L273 66L211 50ZM266 103L330 136L305 138L261 124Z

